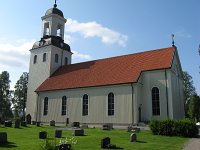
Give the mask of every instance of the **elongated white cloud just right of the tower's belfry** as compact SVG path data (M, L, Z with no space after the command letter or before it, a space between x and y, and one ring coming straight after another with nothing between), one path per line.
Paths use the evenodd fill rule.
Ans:
M105 44L118 44L125 47L128 41L128 36L109 28L103 27L101 24L93 22L80 23L76 20L68 19L66 23L66 32L80 33L85 38L98 37Z

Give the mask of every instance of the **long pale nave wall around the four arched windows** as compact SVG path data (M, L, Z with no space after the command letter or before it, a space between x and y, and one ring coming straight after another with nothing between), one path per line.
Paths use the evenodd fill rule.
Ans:
M115 109L114 116L108 116L108 94L114 93ZM89 114L82 116L82 97L89 96ZM67 115L61 116L62 97L67 97ZM43 116L44 98L49 98L48 115ZM81 123L103 124L131 124L132 123L132 87L131 85L115 85L91 88L69 89L54 92L44 92L39 94L40 101L40 121L65 122L69 118L70 122L79 121Z

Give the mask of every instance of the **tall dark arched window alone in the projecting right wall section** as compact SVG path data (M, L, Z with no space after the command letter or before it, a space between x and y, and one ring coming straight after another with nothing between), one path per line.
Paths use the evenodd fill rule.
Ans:
M151 91L152 95L152 114L154 116L160 115L160 93L157 87L153 87Z

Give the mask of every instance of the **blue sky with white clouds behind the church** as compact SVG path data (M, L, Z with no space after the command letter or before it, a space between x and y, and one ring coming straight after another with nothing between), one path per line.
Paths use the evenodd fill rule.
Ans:
M0 71L11 87L29 66L29 50L41 38L41 17L54 0L0 1ZM58 0L68 19L65 41L73 63L170 47L175 34L182 68L200 94L199 0Z

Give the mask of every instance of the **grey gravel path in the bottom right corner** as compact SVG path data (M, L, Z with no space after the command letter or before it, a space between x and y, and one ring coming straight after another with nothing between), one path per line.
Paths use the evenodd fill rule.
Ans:
M189 140L183 150L200 150L200 138L192 138Z

